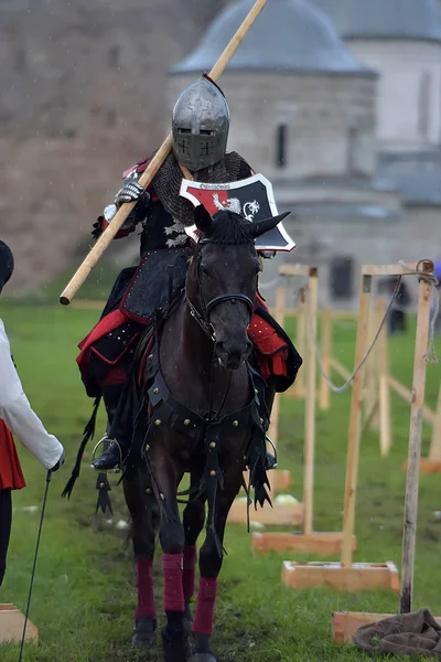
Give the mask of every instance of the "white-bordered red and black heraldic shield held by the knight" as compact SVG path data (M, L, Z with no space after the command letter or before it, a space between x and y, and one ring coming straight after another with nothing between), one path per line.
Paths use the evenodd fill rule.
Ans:
M180 195L194 206L203 204L212 216L219 210L229 210L255 223L278 215L271 182L262 174L227 184L205 184L184 179ZM195 225L186 227L185 232L197 242ZM256 239L258 250L292 250L294 247L282 223Z

